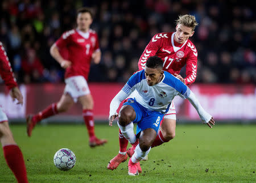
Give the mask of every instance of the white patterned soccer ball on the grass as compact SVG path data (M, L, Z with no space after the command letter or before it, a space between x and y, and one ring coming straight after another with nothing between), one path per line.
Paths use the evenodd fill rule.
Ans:
M53 163L61 171L68 171L76 164L76 155L68 148L61 148L53 156Z

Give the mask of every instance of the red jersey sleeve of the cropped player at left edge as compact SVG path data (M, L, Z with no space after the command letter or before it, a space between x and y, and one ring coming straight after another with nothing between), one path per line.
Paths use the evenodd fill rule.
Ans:
M9 58L3 48L3 44L0 41L0 74L2 79L5 81L6 86L9 88L14 88L17 86L16 79L14 78L13 69L11 69L11 64Z

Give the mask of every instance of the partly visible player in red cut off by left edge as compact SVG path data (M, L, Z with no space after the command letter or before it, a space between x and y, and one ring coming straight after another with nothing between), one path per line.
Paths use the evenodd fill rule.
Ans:
M17 99L17 104L23 104L23 96L19 91L15 78L13 76L13 71L3 44L0 41L0 74L2 79L5 81L6 86L10 90L10 95L13 100ZM0 141L3 147L3 154L5 156L6 162L13 171L16 180L18 182L28 182L27 171L23 159L22 152L14 141L13 134L9 128L8 119L6 114L0 107Z

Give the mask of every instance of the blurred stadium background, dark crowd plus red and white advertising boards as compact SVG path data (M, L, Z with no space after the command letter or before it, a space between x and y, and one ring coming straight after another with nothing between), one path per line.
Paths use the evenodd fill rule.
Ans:
M246 3L245 3L246 2ZM181 14L196 16L191 38L196 45L196 93L217 122L256 122L256 16L251 1L42 1L3 0L0 40L24 96L22 107L12 103L0 79L0 104L11 122L39 112L60 99L64 70L49 54L61 33L76 27L76 9L90 7L92 29L100 37L102 58L92 65L89 87L98 122L106 121L109 104L138 69L138 59L151 37L175 31ZM181 70L181 75L184 75ZM179 122L199 121L196 110L176 97ZM44 122L82 122L80 105Z

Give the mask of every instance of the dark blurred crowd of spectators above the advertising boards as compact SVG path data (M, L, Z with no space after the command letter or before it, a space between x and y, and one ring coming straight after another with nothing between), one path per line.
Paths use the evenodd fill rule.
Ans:
M256 84L253 1L3 0L0 40L19 83L63 82L64 70L49 48L76 27L76 10L82 6L93 11L92 29L102 52L89 81L126 82L152 36L175 31L178 16L191 14L199 23L190 38L199 53L196 83Z

